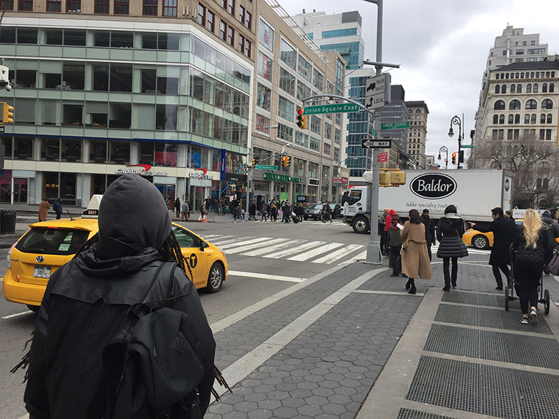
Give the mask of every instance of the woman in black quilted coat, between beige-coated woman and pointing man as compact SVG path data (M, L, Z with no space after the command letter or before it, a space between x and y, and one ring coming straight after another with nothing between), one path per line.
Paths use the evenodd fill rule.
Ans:
M456 214L456 207L449 205L444 210L444 217L437 224L437 240L439 249L437 258L442 258L442 269L444 273L444 291L450 291L450 286L456 288L458 277L458 258L467 256L466 245L462 241L464 234L464 220ZM449 272L452 260L452 273Z

